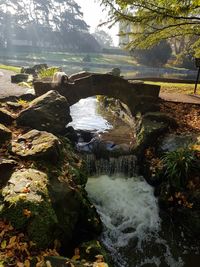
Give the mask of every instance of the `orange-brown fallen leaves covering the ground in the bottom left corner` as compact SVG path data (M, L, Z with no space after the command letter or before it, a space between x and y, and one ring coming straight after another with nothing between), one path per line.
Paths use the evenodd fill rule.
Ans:
M5 221L0 220L0 266L16 266L16 267L48 267L52 266L46 257L55 256L59 259L57 249L60 247L58 240L54 241L53 248L39 250L35 243L29 240L24 232L19 232L13 226ZM86 248L86 254L92 247ZM96 260L88 262L80 255L79 248L75 248L72 259L60 257L63 261L62 265L73 267L108 267L102 255L96 255ZM60 265L61 266L61 265Z

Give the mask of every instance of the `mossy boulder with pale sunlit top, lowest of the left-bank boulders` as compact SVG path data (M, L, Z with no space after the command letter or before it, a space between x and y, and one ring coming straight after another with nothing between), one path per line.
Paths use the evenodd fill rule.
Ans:
M16 229L26 230L30 240L46 247L55 238L58 224L48 192L48 177L35 169L14 172L2 189L0 217Z

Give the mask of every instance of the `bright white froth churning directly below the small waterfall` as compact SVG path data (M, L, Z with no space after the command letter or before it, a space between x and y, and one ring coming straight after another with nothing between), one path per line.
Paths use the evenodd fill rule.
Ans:
M109 247L124 247L134 238L144 240L148 232L159 229L157 200L143 178L90 178L86 190L101 215Z

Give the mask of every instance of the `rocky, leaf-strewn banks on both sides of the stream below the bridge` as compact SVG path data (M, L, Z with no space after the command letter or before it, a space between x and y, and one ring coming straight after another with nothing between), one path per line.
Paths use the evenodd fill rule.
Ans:
M97 241L102 231L101 220L85 191L87 166L80 151L78 153L74 148L76 132L72 128L66 128L71 121L67 99L56 91L32 98L35 97L24 95L20 100L4 99L0 104L1 225L8 226L10 223L16 231L22 232L22 243L28 244L31 241L37 249L52 250L44 253L42 259L39 258L40 261L35 257L35 252L31 254L26 251L27 247L23 252L18 251L21 253L19 257L11 254L7 257L5 255L12 251L17 237L11 240L12 237L6 236L2 230L2 242L5 240L1 245L2 255L5 256L3 264L106 266L109 258ZM119 114L122 110L119 103L112 107L110 102L109 108L115 110L115 113L118 109ZM199 136L196 135L187 143L192 144L193 148L188 148L188 145L185 146L186 141L182 141L179 142L180 146L169 149L166 144L172 141L165 140L163 144L161 137L170 131L174 133L174 129L178 127L177 121L172 117L159 110L150 110L138 112L132 118L125 111L124 119L135 129L130 147L118 145L116 148L114 145L112 149L108 149L105 142L98 146L92 145L90 153L94 155L94 160L104 158L110 161L111 158L122 156L134 157L135 164L139 166L138 172L155 186L160 207L176 219L177 223L183 224L188 234L198 235ZM180 136L177 138L180 140ZM184 169L181 175L173 176L167 172L167 161L163 160L163 156L166 151L177 151L179 148L182 149L180 151L189 149L192 157L189 164L192 163L195 167L187 169L186 173ZM179 162L185 162L185 154L182 153L180 157ZM178 180L176 177L179 177ZM72 260L58 256L56 251ZM98 257L98 254L103 255L104 259ZM16 265L17 261L21 265Z

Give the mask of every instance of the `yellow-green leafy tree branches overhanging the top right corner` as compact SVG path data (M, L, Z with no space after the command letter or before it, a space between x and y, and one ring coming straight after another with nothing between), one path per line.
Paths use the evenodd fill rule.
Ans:
M128 48L147 48L161 40L188 36L200 56L200 0L100 0L110 7L109 23L130 25Z

